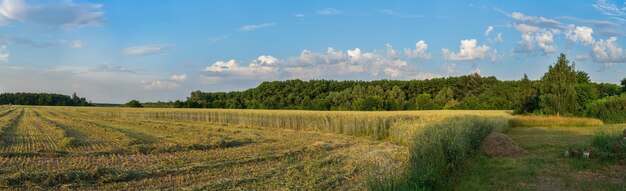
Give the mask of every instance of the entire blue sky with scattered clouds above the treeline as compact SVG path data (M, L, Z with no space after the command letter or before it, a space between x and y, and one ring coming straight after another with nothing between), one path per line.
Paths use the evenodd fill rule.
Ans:
M170 101L288 79L626 77L624 1L0 0L0 92Z

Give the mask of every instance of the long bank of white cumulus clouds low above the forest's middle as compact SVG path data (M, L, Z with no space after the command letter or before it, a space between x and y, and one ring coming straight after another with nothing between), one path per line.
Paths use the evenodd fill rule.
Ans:
M420 43L418 42L418 44ZM261 55L247 63L247 65L241 64L236 60L217 61L203 69L204 78L209 80L209 83L215 83L226 80L294 78L409 79L420 73L426 75L410 67L408 62L403 60L390 44L387 44L382 50L372 52L365 52L359 48L347 51L328 48L325 52L303 50L300 55L285 59Z

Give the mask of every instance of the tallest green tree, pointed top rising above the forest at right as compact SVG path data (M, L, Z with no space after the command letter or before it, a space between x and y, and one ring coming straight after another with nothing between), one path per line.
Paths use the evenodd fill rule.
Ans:
M570 115L577 111L576 71L569 65L565 54L559 56L554 66L543 75L540 107L546 114Z

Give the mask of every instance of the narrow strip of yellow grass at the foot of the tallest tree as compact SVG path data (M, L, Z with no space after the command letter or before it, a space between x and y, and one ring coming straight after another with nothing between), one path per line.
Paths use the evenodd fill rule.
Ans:
M509 120L510 127L592 127L604 123L599 119L562 116L516 116Z

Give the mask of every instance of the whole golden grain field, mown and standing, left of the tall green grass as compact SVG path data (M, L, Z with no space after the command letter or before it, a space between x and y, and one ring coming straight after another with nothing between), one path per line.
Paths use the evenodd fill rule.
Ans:
M5 106L0 188L363 190L404 168L412 132L468 114L509 116Z

